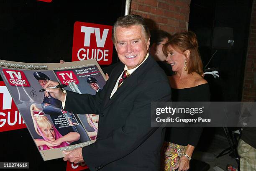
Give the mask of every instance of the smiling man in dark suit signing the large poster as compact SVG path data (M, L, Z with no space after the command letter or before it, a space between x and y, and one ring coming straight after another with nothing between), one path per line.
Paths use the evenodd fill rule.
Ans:
M158 171L164 128L151 127L151 102L169 101L164 71L148 55L150 33L139 15L118 18L113 43L123 64L115 66L96 95L47 89L75 113L99 114L97 141L67 152L64 160L85 161L91 171ZM49 82L47 87L57 85Z

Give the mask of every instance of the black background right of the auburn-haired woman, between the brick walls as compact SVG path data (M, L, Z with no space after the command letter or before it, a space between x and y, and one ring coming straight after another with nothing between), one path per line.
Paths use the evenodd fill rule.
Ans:
M252 0L191 0L189 30L197 34L204 66L220 69L208 79L212 101L241 101ZM228 44L228 40L234 40Z

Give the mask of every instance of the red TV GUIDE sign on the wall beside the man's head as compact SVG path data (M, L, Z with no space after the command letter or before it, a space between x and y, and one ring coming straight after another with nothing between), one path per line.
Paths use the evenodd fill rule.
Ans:
M93 23L74 23L72 61L96 59L101 65L111 64L112 26Z

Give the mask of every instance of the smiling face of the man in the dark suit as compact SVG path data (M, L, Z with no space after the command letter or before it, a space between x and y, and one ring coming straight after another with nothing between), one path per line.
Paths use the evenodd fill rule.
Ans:
M146 40L141 26L118 26L115 30L115 41L118 57L128 69L136 68L146 58L149 40Z

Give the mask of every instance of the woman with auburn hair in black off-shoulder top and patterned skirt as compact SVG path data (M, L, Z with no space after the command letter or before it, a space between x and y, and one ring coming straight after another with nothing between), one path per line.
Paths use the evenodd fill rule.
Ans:
M210 91L203 78L203 65L198 51L195 33L176 33L163 47L166 61L174 74L169 77L172 101L209 101ZM163 145L162 170L189 169L189 160L202 133L202 127L166 128Z

